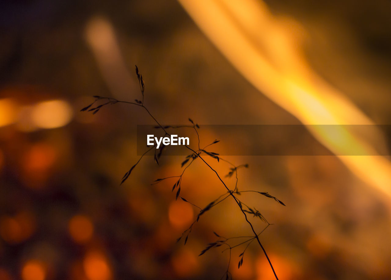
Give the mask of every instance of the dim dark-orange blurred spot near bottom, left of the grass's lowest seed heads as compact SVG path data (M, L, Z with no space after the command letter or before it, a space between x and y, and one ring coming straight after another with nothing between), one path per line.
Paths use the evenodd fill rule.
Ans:
M172 257L171 263L180 278L189 278L199 272L199 259L194 250L181 249Z

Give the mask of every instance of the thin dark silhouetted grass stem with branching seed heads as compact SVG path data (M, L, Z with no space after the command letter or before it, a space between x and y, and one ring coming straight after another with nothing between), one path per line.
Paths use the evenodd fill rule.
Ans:
M144 105L145 84L144 84L144 79L143 79L142 75L140 74L140 72L138 71L138 67L137 66L136 66L136 75L137 75L137 78L138 78L140 91L141 91L141 94L142 94L142 100L135 99L135 102L127 102L127 101L120 101L120 100L117 100L117 99L111 98L111 97L93 96L95 98L95 101L93 103L91 103L90 105L88 105L88 106L84 107L83 109L81 109L81 111L88 111L88 112L93 112L93 114L96 114L105 105L115 104L115 103L127 103L127 104L132 104L132 105L135 105L135 106L139 106L139 107L142 107L143 109L145 109L145 111L149 114L149 116L151 116L151 118L156 122L157 126L155 128L159 128L159 129L163 130L163 132L165 133L163 137L170 136L170 134L167 132L168 128L181 128L181 127L193 128L195 130L195 133L197 134L197 137L198 137L198 149L194 150L194 149L190 148L188 145L185 145L185 147L191 153L185 157L185 160L183 162L181 162L181 167L183 168L185 166L185 168L183 169L182 173L180 175L178 175L178 176L170 176L170 177L165 177L165 178L158 178L158 179L154 180L154 182L152 182L152 184L158 184L158 183L161 183L161 182L163 182L163 181L165 181L167 179L170 179L170 178L177 178L177 180L175 180L174 185L172 186L172 191L176 190L176 199L180 198L184 202L190 203L191 205L193 205L194 207L197 207L200 210L198 215L197 215L197 218L195 219L195 221L187 228L187 230L185 230L182 233L182 235L177 239L177 242L179 242L184 236L186 236L185 237L185 241L184 241L184 244L186 244L187 240L188 240L188 237L189 237L190 233L192 232L192 228L193 228L194 224L197 223L197 221L199 221L200 217L205 212L207 212L210 209L212 209L213 207L215 207L217 204L219 204L222 201L226 200L226 198L231 197L235 201L235 203L238 205L240 211L243 213L244 219L249 224L249 226L251 228L251 231L253 232L253 235L252 236L238 236L238 237L226 238L226 237L223 237L223 236L217 234L216 232L213 232L216 235L216 237L217 237L217 241L215 241L213 243L209 243L208 246L206 246L206 248L201 251L199 256L203 255L204 253L206 253L208 250L210 250L212 248L218 248L218 247L220 247L222 245L227 246L227 248L224 249L222 252L224 252L226 250L230 250L230 257L229 257L229 261L228 261L227 270L225 271L225 273L221 277L221 279L224 278L224 276L225 276L225 279L228 280L230 278L230 275L231 275L230 272L228 271L228 268L229 268L230 262L231 262L231 250L233 248L235 248L235 247L238 247L240 245L246 244L244 250L239 255L238 268L240 268L240 266L242 266L242 264L243 264L244 253L246 252L248 246L254 240L256 240L258 242L259 246L261 247L262 251L264 252L264 255L265 255L267 261L269 262L269 265L270 265L270 267L271 267L271 269L272 269L272 271L274 273L275 278L278 280L276 272L274 271L273 265L272 265L268 255L267 255L266 251L265 251L265 248L264 248L264 246L262 246L262 243L259 240L259 235L262 234L262 232L264 232L264 230L266 230L266 228L268 226L270 226L271 224L265 219L264 216L262 216L262 214L255 207L249 207L248 205L246 205L246 203L244 203L242 200L240 200L238 198L238 196L240 196L242 193L253 192L253 193L261 194L261 195L266 196L268 198L272 198L273 200L275 200L277 203L279 203L281 205L285 206L285 204L281 200L279 200L278 198L272 196L269 193L260 192L260 191L253 191L253 190L239 191L238 187L237 187L237 185L238 185L238 169L240 169L240 168L248 168L248 164L241 164L239 166L235 166L233 163L231 163L229 161L226 161L225 159L222 159L220 157L219 153L210 152L210 151L205 150L206 148L212 146L213 144L218 143L220 140L217 140L217 139L201 149L200 146L199 146L199 143L200 143L200 141L199 141L199 133L198 133L199 125L197 123L194 123L194 121L192 119L190 119L190 118L188 119L188 121L190 121L191 125L178 125L178 126L171 126L171 125L163 126L163 125L161 125L156 120L156 118L154 118L154 116L152 116L151 112L149 112L147 107L145 107L145 105ZM96 107L93 107L94 104L99 104L99 105L97 105ZM93 108L91 108L91 107L93 107ZM131 175L131 172L137 166L137 164L141 161L141 159L148 152L150 152L152 149L154 149L155 147L156 147L156 144L151 146L145 153L143 153L143 155L141 155L141 157L138 159L138 161L135 163L135 165L133 165L129 169L129 171L127 171L125 173L124 177L122 177L121 184L123 184L127 180L127 178L129 178L129 176ZM155 149L155 151L154 151L154 161L156 162L156 164L159 164L159 159L161 157L161 153L162 153L164 147L165 146L163 145L159 149L158 154L156 154L156 150L157 149ZM217 162L224 161L224 162L227 162L228 164L231 165L231 168L229 169L230 171L228 172L228 174L225 177L230 178L233 175L235 175L236 182L235 182L235 188L233 190L228 188L228 186L222 180L222 178L219 175L219 173L217 173L217 171L215 169L213 169L212 166L210 166L210 164L208 162L206 162L206 160L203 158L204 155L206 155L208 157L212 157L213 159L216 159ZM217 178L220 180L220 182L222 183L222 185L226 189L225 193L221 194L221 196L219 196L218 198L216 198L212 202L208 203L203 208L195 205L194 203L189 202L187 199L185 199L182 196L180 196L180 193L181 193L181 182L182 182L183 174L185 173L187 168L190 165L192 165L192 163L195 160L197 160L197 159L200 159L204 164L206 164L206 166L208 166L208 168L211 171L213 171L215 173ZM266 223L267 225L265 226L265 228L262 229L262 231L260 231L259 233L256 233L253 224L248 220L247 214L251 214L251 215L253 215L253 217L259 218L260 221ZM228 241L232 241L233 239L245 239L245 240L241 241L241 242L239 242L239 243L237 243L235 245L231 245L230 243L228 243Z

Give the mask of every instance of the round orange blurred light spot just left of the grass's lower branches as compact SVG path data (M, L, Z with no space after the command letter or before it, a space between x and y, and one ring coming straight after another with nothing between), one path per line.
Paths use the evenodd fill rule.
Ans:
M176 228L190 225L194 219L193 207L182 200L171 202L169 206L169 220Z

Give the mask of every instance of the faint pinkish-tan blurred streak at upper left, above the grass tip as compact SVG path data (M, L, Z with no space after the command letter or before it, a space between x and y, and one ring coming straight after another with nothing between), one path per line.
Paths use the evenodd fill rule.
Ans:
M85 28L85 38L97 60L102 76L116 98L126 98L135 87L118 46L113 26L93 17Z

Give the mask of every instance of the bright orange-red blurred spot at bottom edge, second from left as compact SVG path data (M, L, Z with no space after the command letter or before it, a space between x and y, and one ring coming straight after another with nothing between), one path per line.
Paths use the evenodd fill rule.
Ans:
M84 258L83 268L84 273L90 280L109 280L112 278L111 269L102 253L88 253Z

